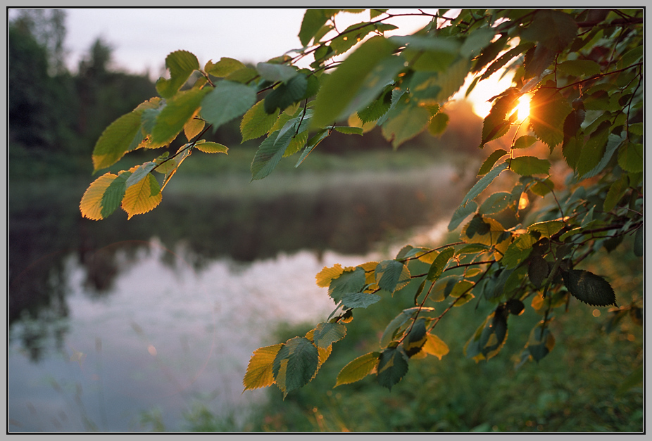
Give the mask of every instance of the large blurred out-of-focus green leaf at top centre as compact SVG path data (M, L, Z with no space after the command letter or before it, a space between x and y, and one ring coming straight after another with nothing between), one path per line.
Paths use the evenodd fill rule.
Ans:
M368 39L351 53L322 84L315 98L313 127L325 127L348 116L343 112L360 91L367 75L392 51L394 44L377 36Z

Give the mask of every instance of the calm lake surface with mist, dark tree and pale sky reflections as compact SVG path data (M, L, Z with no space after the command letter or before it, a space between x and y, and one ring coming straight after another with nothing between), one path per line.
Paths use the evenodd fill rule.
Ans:
M253 350L334 308L315 274L434 240L460 200L452 176L272 175L233 196L170 191L129 222L82 219L78 184L12 185L9 430L183 430L198 403L242 423L265 400L242 393Z

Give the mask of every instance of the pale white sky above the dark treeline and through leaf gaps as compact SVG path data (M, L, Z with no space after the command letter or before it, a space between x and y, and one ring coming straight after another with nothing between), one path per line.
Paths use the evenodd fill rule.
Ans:
M113 68L147 73L153 80L165 75L165 57L179 49L194 53L200 65L222 57L258 63L301 48L298 34L305 11L305 8L251 7L68 8L64 43L67 64L74 72L98 38L113 49ZM389 12L415 13L417 10L393 8ZM344 30L361 20L369 20L368 11L341 13L336 23L339 30ZM385 35L411 34L428 21L423 17L394 18L388 23L399 29ZM306 64L310 61L306 60ZM479 83L470 96L476 112L481 116L488 113L487 99L495 95L497 87L508 86L504 82L497 86L491 79Z

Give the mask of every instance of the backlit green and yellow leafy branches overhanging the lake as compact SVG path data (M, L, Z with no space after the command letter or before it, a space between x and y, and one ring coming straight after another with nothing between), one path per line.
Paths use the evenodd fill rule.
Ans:
M572 299L641 311L642 296L619 307L609 281L579 266L629 237L634 253L643 254L642 12L418 12L429 25L385 37L394 30L387 10L370 10L369 20L338 31L337 15L361 11L308 9L299 31L303 47L294 56L255 67L221 58L201 68L192 53L170 53L159 96L113 122L92 158L97 171L131 151L168 146L182 132L187 143L173 155L99 177L82 198L82 215L104 219L121 206L131 217L153 209L191 153L227 153L201 139L226 122L240 120L243 141L264 137L251 163L252 179L263 179L291 155L301 165L334 131L361 135L379 126L395 148L425 131L440 134L446 104L469 75L467 94L503 72L512 84L491 99L478 146L512 140L491 149L453 213L449 230L459 232L459 241L406 245L391 260L323 269L317 283L327 288L334 312L303 337L254 352L244 387L276 384L284 394L301 388L344 338L356 309L396 295L413 306L387 324L377 351L344 366L336 385L375 375L391 389L413 359L448 352L435 327L453 307L474 302L488 302L492 312L471 334L467 357L479 362L499 354L509 321L531 307L540 320L518 358L539 362L555 345L550 322ZM298 68L305 57L314 59L310 67ZM524 96L531 97L526 117L515 111ZM163 184L153 172L163 174ZM509 188L493 190L505 181Z

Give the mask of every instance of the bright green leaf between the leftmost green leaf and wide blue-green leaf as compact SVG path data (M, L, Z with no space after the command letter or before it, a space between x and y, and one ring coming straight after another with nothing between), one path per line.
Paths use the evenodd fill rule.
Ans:
M184 125L195 115L208 90L181 91L168 99L165 107L156 117L156 124L151 131L151 142L165 145L174 141Z

